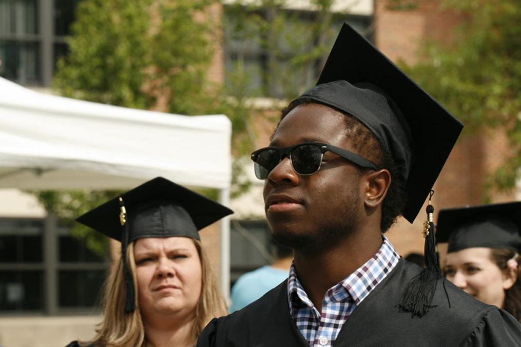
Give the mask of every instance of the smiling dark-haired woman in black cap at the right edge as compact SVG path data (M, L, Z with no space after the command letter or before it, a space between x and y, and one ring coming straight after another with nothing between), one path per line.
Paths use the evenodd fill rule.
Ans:
M444 276L476 299L521 320L521 203L440 210L438 242L448 242Z

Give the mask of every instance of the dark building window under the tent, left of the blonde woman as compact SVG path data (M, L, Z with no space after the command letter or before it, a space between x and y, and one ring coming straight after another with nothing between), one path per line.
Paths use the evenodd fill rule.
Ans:
M0 218L0 314L91 312L107 270L68 224Z

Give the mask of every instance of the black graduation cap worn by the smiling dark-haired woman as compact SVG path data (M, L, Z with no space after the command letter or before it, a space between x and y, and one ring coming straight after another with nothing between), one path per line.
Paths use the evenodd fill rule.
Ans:
M437 230L449 253L470 247L521 252L521 202L442 209Z

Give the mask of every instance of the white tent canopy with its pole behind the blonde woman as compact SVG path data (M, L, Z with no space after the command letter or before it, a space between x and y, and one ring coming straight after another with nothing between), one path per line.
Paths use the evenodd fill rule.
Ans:
M126 189L163 176L219 189L221 203L228 205L230 137L224 115L189 117L97 104L0 78L0 188ZM221 232L227 294L227 223Z

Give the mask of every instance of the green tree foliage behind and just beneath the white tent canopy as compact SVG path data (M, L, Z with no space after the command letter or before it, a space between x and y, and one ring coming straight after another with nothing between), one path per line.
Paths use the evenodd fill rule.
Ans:
M207 82L218 23L211 0L83 0L53 81L61 95L178 114L227 113ZM72 219L117 191L35 192L45 208ZM209 192L209 195L216 195ZM76 224L74 236L106 254L106 240Z

